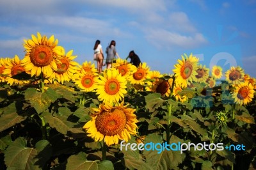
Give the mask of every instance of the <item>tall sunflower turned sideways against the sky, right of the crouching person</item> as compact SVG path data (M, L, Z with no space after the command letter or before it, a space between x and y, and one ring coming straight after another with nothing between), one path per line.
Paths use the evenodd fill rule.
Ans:
M184 56L182 56L182 60L178 60L179 63L174 65L175 68L173 69L176 76L176 82L182 88L186 88L188 84L191 84L191 82L195 80L199 60L192 54L190 54L189 57L187 54L184 54Z

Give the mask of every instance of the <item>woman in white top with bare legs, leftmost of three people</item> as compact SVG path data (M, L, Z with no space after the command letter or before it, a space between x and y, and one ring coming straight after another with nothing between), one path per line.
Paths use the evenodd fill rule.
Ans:
M100 40L96 40L93 50L94 50L94 54L96 55L97 70L99 73L101 73L104 55L102 52L102 46L100 45Z

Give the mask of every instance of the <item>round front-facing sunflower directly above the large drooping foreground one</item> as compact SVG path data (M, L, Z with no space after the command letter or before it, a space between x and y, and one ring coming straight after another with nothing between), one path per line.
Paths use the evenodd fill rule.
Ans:
M106 69L97 80L97 95L103 102L119 102L124 98L127 80L115 68Z

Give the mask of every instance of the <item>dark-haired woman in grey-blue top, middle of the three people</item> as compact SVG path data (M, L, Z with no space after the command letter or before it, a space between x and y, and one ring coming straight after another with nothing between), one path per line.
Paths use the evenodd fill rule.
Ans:
M107 58L106 58L107 68L111 68L112 63L116 58L116 56L120 58L116 52L116 42L114 40L110 42L109 46L106 49L106 53L107 53Z

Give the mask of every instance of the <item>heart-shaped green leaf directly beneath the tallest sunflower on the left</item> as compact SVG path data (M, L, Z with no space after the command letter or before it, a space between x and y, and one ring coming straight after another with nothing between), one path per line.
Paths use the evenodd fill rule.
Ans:
M36 91L35 88L28 88L24 95L25 99L31 103L38 114L45 111L58 98L58 94L51 88L44 93Z

